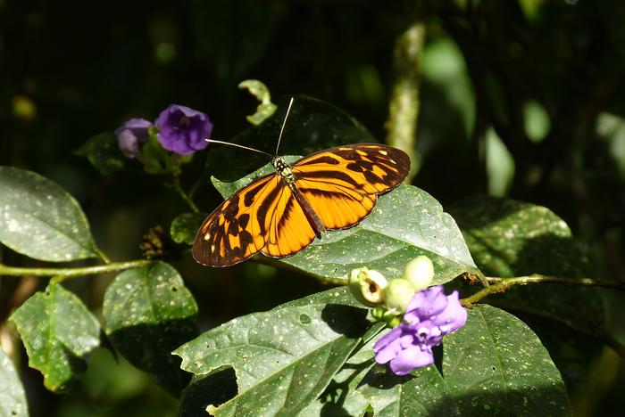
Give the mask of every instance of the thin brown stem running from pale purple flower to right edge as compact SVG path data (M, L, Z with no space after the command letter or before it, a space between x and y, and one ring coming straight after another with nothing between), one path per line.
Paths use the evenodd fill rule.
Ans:
M486 277L486 280L491 285L483 290L479 290L467 298L462 298L462 305L465 307L471 307L471 305L477 303L482 298L486 298L490 294L495 294L496 292L504 292L514 285L529 285L541 282L553 282L568 286L602 287L611 290L625 290L625 282L605 282L594 280L592 278L571 280L569 278L542 274L515 276L513 278Z

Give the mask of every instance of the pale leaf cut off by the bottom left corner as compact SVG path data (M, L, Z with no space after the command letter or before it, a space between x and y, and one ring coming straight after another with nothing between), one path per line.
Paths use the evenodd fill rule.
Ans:
M11 359L0 349L0 415L25 417L29 415L26 393Z

